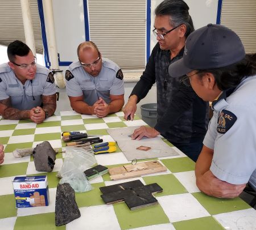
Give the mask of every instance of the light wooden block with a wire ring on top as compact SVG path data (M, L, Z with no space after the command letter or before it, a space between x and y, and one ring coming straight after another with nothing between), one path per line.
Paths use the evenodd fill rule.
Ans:
M110 168L109 174L111 180L121 180L166 171L167 168L160 164L159 161L153 160Z

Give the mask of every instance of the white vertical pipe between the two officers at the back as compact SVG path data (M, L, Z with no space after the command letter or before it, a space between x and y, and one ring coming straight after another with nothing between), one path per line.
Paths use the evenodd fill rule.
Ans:
M51 61L51 69L59 69L52 0L43 0L43 9L44 9L44 21L46 24L48 51L49 51L49 57ZM65 87L63 74L61 72L56 72L55 79L56 79L56 84L59 88Z

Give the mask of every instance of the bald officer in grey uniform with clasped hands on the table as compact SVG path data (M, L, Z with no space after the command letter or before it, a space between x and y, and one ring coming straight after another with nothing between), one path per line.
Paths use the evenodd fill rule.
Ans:
M77 113L105 117L118 112L124 104L122 70L112 61L101 57L92 41L77 48L79 61L66 71L66 88L71 107Z

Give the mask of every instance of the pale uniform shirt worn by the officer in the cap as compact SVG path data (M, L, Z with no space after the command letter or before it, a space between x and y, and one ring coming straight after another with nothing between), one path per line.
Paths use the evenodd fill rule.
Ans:
M214 105L204 145L214 150L210 171L230 184L256 189L256 76L242 80Z

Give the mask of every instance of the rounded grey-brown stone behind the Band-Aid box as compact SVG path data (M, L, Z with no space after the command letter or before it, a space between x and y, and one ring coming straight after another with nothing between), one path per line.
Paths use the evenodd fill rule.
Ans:
M52 172L55 165L56 152L49 142L38 144L33 151L36 171Z

